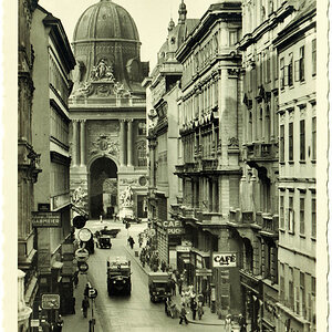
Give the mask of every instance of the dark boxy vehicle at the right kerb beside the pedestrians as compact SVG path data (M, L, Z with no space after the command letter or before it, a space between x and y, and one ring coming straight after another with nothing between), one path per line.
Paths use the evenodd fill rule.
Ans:
M167 272L148 273L148 291L152 302L165 301L170 297L170 283Z

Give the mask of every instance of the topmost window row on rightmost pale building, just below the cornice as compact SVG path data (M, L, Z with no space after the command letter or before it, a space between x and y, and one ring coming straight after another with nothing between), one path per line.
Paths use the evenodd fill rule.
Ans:
M317 40L311 41L311 75L317 74ZM280 59L280 89L293 86L295 82L305 80L305 45L300 46L299 55L293 61L293 53L289 53L286 63L284 56Z

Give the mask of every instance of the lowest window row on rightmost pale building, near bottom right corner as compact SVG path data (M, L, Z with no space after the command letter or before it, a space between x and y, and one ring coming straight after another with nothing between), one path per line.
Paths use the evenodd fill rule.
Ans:
M313 323L315 321L315 291L314 277L280 263L280 302Z

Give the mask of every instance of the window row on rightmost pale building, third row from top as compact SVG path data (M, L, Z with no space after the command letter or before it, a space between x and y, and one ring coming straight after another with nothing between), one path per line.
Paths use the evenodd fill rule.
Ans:
M288 230L289 234L294 235L298 230L301 236L305 236L307 227L311 228L311 237L315 238L317 235L317 201L315 194L300 193L294 209L294 195L289 191L288 201L286 196L280 194L279 197L279 225L281 230ZM309 203L309 204L308 204ZM287 205L286 205L287 204ZM295 216L295 210L299 216ZM307 217L307 218L305 218ZM299 225L295 225L299 220ZM310 220L310 222L309 222Z

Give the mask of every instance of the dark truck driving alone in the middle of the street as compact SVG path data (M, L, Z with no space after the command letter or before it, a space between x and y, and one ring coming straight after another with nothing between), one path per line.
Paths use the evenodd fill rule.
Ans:
M125 257L107 259L107 292L129 295L132 292L131 261Z

